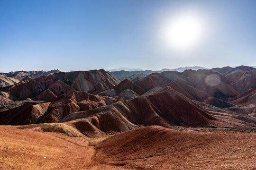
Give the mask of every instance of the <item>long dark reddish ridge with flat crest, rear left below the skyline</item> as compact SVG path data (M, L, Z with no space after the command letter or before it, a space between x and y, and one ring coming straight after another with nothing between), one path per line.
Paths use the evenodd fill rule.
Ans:
M41 76L33 80L23 80L18 84L0 88L17 97L26 99L36 97L49 89L55 95L72 91L96 92L112 88L119 83L105 70L60 72L50 76Z

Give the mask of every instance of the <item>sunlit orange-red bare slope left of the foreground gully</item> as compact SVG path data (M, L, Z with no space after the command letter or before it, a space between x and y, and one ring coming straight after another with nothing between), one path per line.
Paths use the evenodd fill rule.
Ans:
M121 169L95 163L93 148L83 137L0 126L0 170Z

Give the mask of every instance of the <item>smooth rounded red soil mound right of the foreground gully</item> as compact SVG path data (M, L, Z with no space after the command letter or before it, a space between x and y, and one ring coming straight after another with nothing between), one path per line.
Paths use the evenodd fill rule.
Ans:
M96 161L139 170L255 170L256 134L151 126L96 144Z

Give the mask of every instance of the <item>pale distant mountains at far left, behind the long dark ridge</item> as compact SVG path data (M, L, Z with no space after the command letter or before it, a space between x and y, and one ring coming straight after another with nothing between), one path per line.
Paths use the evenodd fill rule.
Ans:
M58 69L51 71L12 71L9 73L0 73L0 87L14 85L22 80L35 79L40 76L49 76L61 72Z

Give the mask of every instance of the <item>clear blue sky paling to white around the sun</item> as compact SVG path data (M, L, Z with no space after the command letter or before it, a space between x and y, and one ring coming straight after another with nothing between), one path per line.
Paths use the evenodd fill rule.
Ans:
M203 27L189 49L162 36L183 14ZM256 66L256 0L0 0L0 72L239 65Z

